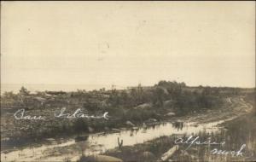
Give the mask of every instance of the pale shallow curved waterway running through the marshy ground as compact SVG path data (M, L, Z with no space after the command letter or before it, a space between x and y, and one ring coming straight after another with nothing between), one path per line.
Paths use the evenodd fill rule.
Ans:
M123 140L123 146L132 146L147 142L160 136L191 135L206 131L217 132L218 124L226 120L208 124L196 123L164 123L154 126L141 127L137 130L120 130L112 133L91 134L86 142L75 142L73 138L62 142L51 141L38 147L20 148L9 153L1 153L1 161L77 161L84 155L104 153L106 150L118 147L117 139ZM57 141L57 140L56 140Z

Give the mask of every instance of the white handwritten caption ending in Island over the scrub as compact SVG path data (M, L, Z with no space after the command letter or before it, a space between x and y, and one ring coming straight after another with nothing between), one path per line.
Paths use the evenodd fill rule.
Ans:
M80 108L78 108L74 113L65 113L66 107L62 107L60 113L55 113L55 118L66 118L66 119L107 119L109 118L108 112L103 113L102 115L89 115L83 113ZM27 115L24 108L19 109L14 113L15 119L25 119L25 120L45 120L46 117L41 115Z

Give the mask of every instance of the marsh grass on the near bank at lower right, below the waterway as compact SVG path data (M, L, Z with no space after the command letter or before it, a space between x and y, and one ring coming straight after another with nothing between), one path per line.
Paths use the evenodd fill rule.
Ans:
M223 124L224 129L215 133L209 133L206 130L194 134L200 136L200 141L204 142L211 139L211 142L225 142L224 145L193 145L186 149L188 144L181 144L180 148L172 155L173 161L255 161L256 160L256 116L253 113L244 115L238 119ZM143 156L143 152L154 154L154 158L150 160L156 161L160 159L163 153L172 148L179 135L160 136L154 140L136 144L134 146L125 146L120 150L117 148L108 150L106 155L118 157L124 161L145 161L148 160ZM189 135L182 135L183 137ZM217 155L212 154L212 150L225 150L226 152L238 151L243 144L246 144L241 152L243 156Z

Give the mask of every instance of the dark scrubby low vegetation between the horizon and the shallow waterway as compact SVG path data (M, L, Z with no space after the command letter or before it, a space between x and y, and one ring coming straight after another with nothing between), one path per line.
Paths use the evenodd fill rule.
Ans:
M127 127L126 122L143 124L189 113L222 107L224 98L242 94L246 89L225 87L188 87L175 81L160 81L150 87L139 84L125 90L77 90L75 92L38 91L31 93L21 87L20 92L1 95L1 132L3 146L12 143L37 141L54 136L70 136L83 132L108 131ZM110 119L55 119L61 107L67 112L80 108L84 113L108 112ZM14 113L24 108L27 114L49 117L47 120L16 120ZM23 139L23 140L20 140ZM22 144L22 143L20 143ZM8 148L8 147L4 147Z

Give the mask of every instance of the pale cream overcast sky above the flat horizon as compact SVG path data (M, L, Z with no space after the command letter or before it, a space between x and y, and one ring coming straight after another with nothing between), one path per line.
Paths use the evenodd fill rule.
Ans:
M2 84L255 85L255 2L1 3Z

